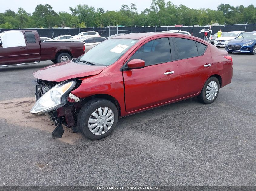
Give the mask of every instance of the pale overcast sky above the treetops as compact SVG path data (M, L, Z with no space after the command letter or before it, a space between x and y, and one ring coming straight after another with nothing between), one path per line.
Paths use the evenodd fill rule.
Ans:
M165 0L167 2L167 0ZM224 1L203 1L203 0L172 0L174 5L183 4L189 8L200 9L200 8L210 8L217 9L218 5L221 3L230 4L232 6L244 5L247 7L248 5L253 4L256 6L256 0L224 0ZM137 5L138 13L141 13L145 8L150 8L151 0L40 0L40 1L32 1L32 0L7 0L1 3L0 12L3 13L7 9L11 9L14 12L18 11L18 8L21 7L28 13L33 13L35 11L35 7L38 4L49 4L53 7L55 12L66 11L69 13L69 7L76 7L78 4L87 4L95 8L102 7L105 11L107 10L119 10L122 4L130 5L131 3L135 3Z

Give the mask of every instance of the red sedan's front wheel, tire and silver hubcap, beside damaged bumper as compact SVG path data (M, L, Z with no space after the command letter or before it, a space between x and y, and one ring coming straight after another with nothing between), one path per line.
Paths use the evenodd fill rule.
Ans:
M118 110L114 103L105 99L88 101L79 111L77 126L87 138L98 140L108 136L118 121Z

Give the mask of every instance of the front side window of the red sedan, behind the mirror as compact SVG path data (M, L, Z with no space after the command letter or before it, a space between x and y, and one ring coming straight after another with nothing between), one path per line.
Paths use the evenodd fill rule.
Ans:
M141 46L130 60L141 59L145 61L145 66L155 65L171 61L171 50L168 38L152 40Z

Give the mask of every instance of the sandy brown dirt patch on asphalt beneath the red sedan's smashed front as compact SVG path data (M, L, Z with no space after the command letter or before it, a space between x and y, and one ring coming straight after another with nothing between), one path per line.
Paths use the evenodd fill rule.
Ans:
M33 97L2 101L0 102L0 118L5 119L7 123L38 128L51 133L55 129L55 126L47 116L44 114L34 115L29 112L34 104L35 98ZM68 127L63 128L65 131L62 138L58 138L60 141L73 143L75 140L83 138L80 133L73 133Z

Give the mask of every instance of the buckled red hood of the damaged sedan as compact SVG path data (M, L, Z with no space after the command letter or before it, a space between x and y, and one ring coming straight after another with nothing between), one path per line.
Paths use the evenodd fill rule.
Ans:
M101 73L104 68L105 66L78 64L70 60L42 68L33 75L41 80L61 82L71 78L96 75Z

